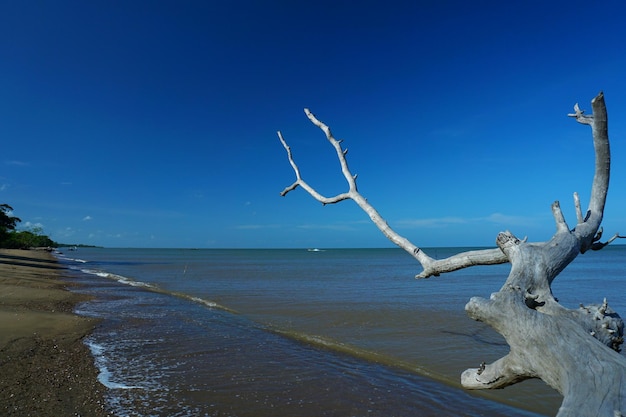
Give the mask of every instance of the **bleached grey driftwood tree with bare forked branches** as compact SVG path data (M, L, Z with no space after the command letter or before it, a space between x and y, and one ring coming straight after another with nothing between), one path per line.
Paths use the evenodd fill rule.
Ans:
M473 297L465 306L474 320L487 323L498 331L510 346L505 357L491 364L467 369L461 383L468 389L504 388L529 378L540 378L564 397L557 414L565 416L626 415L626 358L620 355L624 324L606 302L570 310L561 306L552 295L552 281L587 250L599 250L616 238L600 242L600 228L610 176L610 148L604 95L592 102L593 115L587 116L578 105L574 117L592 129L595 151L595 173L587 211L583 214L580 200L574 194L576 226L570 228L558 202L552 204L556 232L547 242L530 243L506 231L497 236L494 249L464 252L435 260L408 239L396 233L376 209L358 192L356 175L350 172L341 141L330 128L308 109L309 120L319 127L334 147L348 191L325 197L311 187L300 174L290 147L281 132L283 144L296 180L286 187L286 195L304 188L323 204L353 200L372 222L393 243L413 256L423 268L417 278L438 276L473 265L509 262L511 271L502 288L489 299Z

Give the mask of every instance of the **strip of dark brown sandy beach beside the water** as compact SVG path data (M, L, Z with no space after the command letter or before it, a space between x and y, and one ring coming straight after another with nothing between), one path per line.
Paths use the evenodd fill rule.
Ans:
M106 416L104 387L83 344L96 321L45 251L0 249L0 414Z

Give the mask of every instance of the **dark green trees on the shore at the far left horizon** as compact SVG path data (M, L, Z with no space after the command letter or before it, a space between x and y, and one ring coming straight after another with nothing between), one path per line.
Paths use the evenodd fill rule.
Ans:
M43 234L43 228L35 226L30 230L16 230L22 220L13 215L13 207L0 204L0 248L30 249L56 247L57 243Z

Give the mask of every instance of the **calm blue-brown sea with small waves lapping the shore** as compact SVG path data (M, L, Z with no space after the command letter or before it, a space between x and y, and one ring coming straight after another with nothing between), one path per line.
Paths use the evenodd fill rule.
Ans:
M475 248L433 248L444 258ZM549 416L540 380L460 386L467 368L508 353L464 306L503 285L510 265L416 280L386 249L110 249L58 253L116 416ZM626 314L626 246L580 255L556 278L561 304Z

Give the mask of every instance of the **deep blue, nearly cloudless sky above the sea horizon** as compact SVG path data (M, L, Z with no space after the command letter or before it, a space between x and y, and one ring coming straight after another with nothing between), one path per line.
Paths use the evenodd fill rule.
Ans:
M107 247L387 247L361 193L420 246L493 246L586 207L604 91L605 233L626 233L626 3L0 1L0 203Z

